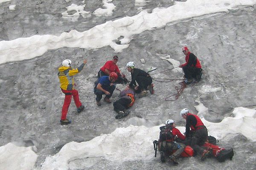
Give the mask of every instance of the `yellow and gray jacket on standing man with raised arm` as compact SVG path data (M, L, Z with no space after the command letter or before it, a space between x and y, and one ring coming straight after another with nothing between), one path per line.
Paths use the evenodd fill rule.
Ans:
M71 67L61 66L58 68L58 78L60 80L61 89L73 90L74 89L74 78L73 75L81 72L84 68L84 63L81 64L77 69Z

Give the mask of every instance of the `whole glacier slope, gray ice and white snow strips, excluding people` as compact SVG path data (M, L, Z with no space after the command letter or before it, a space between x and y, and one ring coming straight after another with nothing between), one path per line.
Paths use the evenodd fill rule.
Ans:
M105 7L113 13L93 15L104 3L115 6ZM63 17L72 4L76 6L68 14L81 10L79 17ZM256 0L0 0L0 169L168 169L171 164L154 158L152 141L169 118L184 131L179 112L186 107L198 113L219 145L233 147L235 156L224 163L183 158L177 170L253 170L255 4ZM9 10L11 5L16 5L15 11ZM96 106L94 74L113 55L119 56L117 64L130 80L128 61L144 70L158 68L153 74L183 63L183 46L199 58L204 74L176 101L164 98L175 94L179 81L154 80L155 94L137 98L131 114L121 120L114 118L111 104ZM61 126L64 95L57 72L66 58L74 67L88 58L75 77L85 110L77 114L72 102L72 124ZM183 72L177 68L152 77L183 78ZM117 98L115 91L111 100Z

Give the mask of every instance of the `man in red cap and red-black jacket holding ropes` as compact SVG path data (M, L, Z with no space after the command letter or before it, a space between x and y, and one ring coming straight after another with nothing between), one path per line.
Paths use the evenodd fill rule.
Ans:
M185 57L186 63L181 64L179 67L183 69L184 78L186 78L185 83L191 84L194 79L195 81L200 81L202 76L202 66L198 58L191 52L189 52L188 47L184 46L182 52Z

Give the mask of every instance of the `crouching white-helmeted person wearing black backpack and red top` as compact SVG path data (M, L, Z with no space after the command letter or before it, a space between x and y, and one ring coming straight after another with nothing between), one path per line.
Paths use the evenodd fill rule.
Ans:
M186 147L184 144L176 143L175 139L185 139L185 136L180 133L180 130L175 128L175 122L172 119L166 121L166 125L160 127L160 135L158 140L158 149L160 151L160 159L166 161L166 156L169 156L173 164L177 165L177 157L183 152ZM174 151L176 152L174 153Z

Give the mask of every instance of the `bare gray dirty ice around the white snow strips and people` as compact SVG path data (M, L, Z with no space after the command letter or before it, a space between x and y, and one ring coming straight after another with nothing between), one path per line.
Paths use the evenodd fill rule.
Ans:
M36 3L39 2L39 5ZM80 0L72 0L79 5ZM88 0L85 11L93 12L102 1ZM137 14L134 1L114 0L116 11L109 17L79 18L70 22L61 18L61 12L70 3L64 0L21 0L15 11L8 10L10 2L0 4L0 40L13 40L32 35L60 35L72 29L83 32L93 26L116 20L120 17ZM168 7L169 0L148 2L143 9ZM81 4L80 4L81 5ZM38 7L39 6L39 7ZM105 61L111 59L113 49L104 47L96 51L86 49L61 48L51 50L32 60L4 63L0 65L0 146L14 142L20 146L35 145L39 155L36 167L45 157L58 153L61 147L70 141L88 141L102 133L111 133L117 127L129 124L147 127L162 124L172 118L177 126L184 126L180 118L180 109L188 107L197 113L194 106L198 99L209 113L204 115L207 121L219 122L224 117L232 116L235 107L253 107L256 104L256 8L240 7L230 13L202 16L169 23L161 29L145 31L136 35L128 49L117 54L119 68L130 79L125 69L128 61L148 70L157 67L158 71L172 68L156 54L170 55L171 58L184 62L182 46L189 46L198 56L205 74L202 81L188 86L176 101L164 101L175 93L175 86L180 81L161 83L154 81L155 94L138 99L131 108L131 114L122 120L116 120L112 105L103 103L97 107L93 94L94 74ZM59 124L64 95L59 89L58 67L62 60L70 58L73 66L79 66L88 58L84 70L76 76L80 99L85 111L76 112L74 103L70 105L68 116L72 119L69 126ZM140 59L145 59L145 64ZM163 72L154 78L182 78L177 72ZM220 91L202 93L203 86L221 88ZM119 86L124 88L124 86ZM115 91L113 99L118 92ZM152 139L154 140L154 139ZM218 163L210 159L205 162L197 158L180 160L176 169L254 169L256 161L256 143L247 140L242 134L230 141L220 141L222 146L231 146L235 150L233 161ZM152 147L152 155L154 150ZM94 160L99 163L93 169L167 169L170 164L161 164L160 159L141 162L132 161L115 164L104 159ZM84 160L75 163L82 164Z

